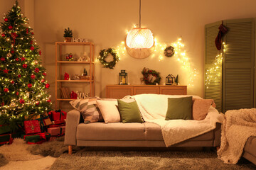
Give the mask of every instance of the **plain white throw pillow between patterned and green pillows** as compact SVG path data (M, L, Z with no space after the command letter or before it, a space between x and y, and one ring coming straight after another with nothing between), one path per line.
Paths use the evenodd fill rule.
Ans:
M117 101L99 101L97 106L100 108L105 123L121 122L120 113L117 108Z

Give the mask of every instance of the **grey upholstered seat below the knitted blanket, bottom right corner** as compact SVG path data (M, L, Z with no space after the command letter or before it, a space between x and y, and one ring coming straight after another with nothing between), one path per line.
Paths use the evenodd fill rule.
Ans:
M256 165L256 137L255 136L248 138L244 147L244 152L242 153L242 157L245 157L245 159L249 160L250 162Z

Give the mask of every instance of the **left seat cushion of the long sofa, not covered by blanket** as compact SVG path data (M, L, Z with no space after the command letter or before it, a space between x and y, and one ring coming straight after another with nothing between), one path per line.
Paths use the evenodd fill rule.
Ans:
M78 140L145 140L143 123L80 123Z

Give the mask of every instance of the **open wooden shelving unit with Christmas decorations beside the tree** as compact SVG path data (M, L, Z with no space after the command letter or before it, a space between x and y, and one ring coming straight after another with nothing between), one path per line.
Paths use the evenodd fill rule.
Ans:
M80 45L89 46L90 48L90 62L77 62L77 61L64 61L61 60L63 54L63 47L68 45ZM89 64L89 76L90 80L64 80L63 79L63 67L70 67L70 64L80 67L81 64ZM95 96L95 45L92 42L55 42L55 109L61 108L60 102L72 101L71 98L61 98L60 89L63 87L63 83L79 83L90 84L90 96Z

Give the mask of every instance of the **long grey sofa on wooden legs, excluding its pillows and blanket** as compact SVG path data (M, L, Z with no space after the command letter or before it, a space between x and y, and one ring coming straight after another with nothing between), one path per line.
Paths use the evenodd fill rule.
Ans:
M166 147L161 128L154 123L82 123L80 112L67 114L65 145L69 154L72 146L82 147ZM171 147L218 147L220 146L220 124L198 137L180 142Z

